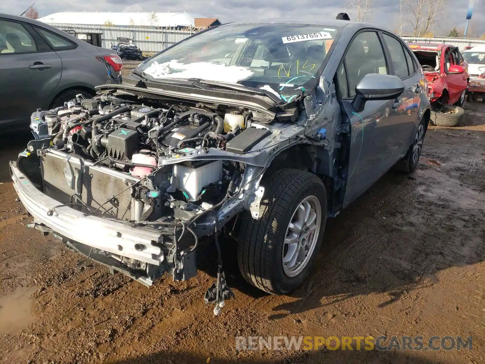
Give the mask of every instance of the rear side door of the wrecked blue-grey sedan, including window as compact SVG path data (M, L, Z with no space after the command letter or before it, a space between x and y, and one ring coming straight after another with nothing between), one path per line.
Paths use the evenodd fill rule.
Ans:
M404 157L418 127L418 112L420 107L420 91L422 75L417 73L417 65L413 61L411 51L396 36L383 33L384 42L388 49L388 58L392 64L392 73L403 80L405 89L401 95L399 106L399 122L389 130L397 145L395 146L394 163Z

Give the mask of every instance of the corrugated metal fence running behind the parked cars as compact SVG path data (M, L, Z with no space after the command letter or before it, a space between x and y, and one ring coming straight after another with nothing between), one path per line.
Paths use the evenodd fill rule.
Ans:
M136 46L143 52L156 53L170 47L172 44L180 42L195 32L185 30L167 30L149 27L106 27L104 25L83 25L83 24L58 24L49 23L61 30L73 30L79 33L100 33L103 48L110 48L111 43L116 44L117 37L133 38ZM402 36L406 41L424 43L451 44L463 50L465 47L474 47L485 44L485 40L467 38L420 38L412 36Z

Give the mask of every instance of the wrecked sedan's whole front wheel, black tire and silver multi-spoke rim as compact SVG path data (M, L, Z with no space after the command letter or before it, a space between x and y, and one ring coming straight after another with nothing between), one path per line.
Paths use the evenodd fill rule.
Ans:
M246 211L240 227L238 263L242 276L275 295L287 294L306 278L320 246L327 216L322 180L282 169L262 183L259 219Z

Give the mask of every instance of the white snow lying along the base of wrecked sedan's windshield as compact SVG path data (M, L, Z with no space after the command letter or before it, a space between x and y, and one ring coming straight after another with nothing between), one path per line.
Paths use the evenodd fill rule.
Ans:
M184 65L178 60L165 63L153 61L144 72L153 78L200 78L228 83L238 83L251 77L254 73L242 66L217 65L210 62L194 62Z

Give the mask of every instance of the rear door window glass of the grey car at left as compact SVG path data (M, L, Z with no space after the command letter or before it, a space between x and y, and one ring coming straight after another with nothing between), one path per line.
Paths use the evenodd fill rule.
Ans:
M32 36L20 23L0 20L0 54L37 51Z

